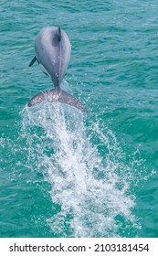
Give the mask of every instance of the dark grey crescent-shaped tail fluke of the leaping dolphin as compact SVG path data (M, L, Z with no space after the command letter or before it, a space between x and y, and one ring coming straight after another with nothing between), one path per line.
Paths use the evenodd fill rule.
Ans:
M61 103L66 103L76 107L82 112L88 112L79 100L63 90L58 91L58 89L51 89L48 91L39 92L28 102L28 107L34 106L42 101L59 101Z

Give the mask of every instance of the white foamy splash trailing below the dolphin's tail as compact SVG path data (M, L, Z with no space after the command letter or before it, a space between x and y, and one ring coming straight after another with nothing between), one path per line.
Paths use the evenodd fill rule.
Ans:
M100 128L100 122L87 127L81 112L60 103L45 102L22 115L28 165L45 176L58 206L47 219L52 232L60 237L117 237L126 229L127 235L137 225L132 169L123 163L114 134Z

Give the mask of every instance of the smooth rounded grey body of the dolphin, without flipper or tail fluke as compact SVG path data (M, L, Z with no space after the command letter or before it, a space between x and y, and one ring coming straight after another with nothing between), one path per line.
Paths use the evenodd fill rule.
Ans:
M70 42L67 34L59 27L45 27L35 40L36 58L43 69L59 87L70 59Z

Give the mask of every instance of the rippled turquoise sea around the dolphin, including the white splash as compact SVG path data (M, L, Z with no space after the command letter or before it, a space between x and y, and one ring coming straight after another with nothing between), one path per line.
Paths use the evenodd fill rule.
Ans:
M158 237L156 0L0 3L0 237ZM88 114L26 103L51 80L41 28L62 27L62 88Z

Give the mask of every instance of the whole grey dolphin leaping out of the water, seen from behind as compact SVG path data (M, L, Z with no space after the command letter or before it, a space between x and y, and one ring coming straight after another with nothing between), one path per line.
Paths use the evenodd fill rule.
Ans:
M82 112L87 112L80 101L60 88L68 68L71 51L66 32L60 27L43 28L35 39L35 51L36 56L30 62L29 67L37 60L43 72L53 81L55 88L37 93L28 102L28 106L31 107L41 101L59 101L74 106Z

